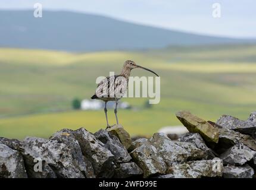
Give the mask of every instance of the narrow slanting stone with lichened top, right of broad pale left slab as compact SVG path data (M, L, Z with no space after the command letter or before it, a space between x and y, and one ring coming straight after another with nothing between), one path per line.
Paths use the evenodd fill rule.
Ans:
M70 149L74 166L85 175L86 178L95 178L94 169L90 159L83 156L82 150L71 129L62 129L52 135L51 140L57 140L58 143L64 143Z

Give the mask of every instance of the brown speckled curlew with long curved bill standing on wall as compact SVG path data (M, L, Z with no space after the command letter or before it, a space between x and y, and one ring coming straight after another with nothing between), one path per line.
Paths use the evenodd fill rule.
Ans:
M129 77L130 77L130 72L132 71L132 69L135 69L135 68L145 69L145 70L157 75L154 71L151 71L150 69L145 68L143 66L136 65L135 62L128 60L128 61L124 62L121 74L104 78L104 80L102 80L98 84L95 94L91 97L91 99L99 99L99 100L102 100L105 102L104 112L105 112L105 117L107 120L107 128L110 127L110 125L108 124L108 116L107 116L107 102L108 101L115 102L114 113L115 113L115 119L118 124L118 118L117 118L118 101L126 93L126 90L128 87L127 84L128 84Z

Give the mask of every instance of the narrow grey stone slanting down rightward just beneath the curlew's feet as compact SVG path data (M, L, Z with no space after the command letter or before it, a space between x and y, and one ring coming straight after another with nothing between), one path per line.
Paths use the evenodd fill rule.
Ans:
M132 159L126 148L115 135L109 134L103 129L100 129L94 135L104 144L105 148L111 151L115 157L115 162L129 162Z

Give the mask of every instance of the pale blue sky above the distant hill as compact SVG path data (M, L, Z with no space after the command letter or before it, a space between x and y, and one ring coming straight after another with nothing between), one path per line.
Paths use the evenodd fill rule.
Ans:
M36 2L44 9L107 15L193 33L256 38L254 0L1 0L0 9L33 9ZM220 18L212 16L214 3L221 5Z

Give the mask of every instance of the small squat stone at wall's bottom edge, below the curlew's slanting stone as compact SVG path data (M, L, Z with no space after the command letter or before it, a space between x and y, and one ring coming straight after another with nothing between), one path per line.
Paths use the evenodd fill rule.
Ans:
M132 176L139 176L142 174L142 169L136 163L120 163L120 166L115 169L114 178L129 178Z

